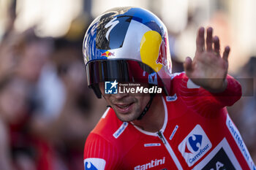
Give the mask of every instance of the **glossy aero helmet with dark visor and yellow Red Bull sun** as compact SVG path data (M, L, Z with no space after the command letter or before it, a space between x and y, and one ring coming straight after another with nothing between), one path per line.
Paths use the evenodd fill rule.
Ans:
M138 7L116 7L96 18L83 40L89 87L101 98L99 82L141 82L170 94L172 64L167 28Z

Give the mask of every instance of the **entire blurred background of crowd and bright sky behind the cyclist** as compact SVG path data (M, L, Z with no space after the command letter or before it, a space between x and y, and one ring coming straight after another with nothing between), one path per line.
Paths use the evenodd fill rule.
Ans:
M229 107L256 162L256 1L0 0L0 169L83 169L83 146L106 109L87 88L83 35L118 6L143 7L169 31L173 72L193 58L200 26L230 45L244 96Z

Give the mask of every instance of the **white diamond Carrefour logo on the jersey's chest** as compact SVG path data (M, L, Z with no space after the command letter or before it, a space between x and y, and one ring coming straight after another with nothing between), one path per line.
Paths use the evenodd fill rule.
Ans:
M178 145L178 150L190 167L200 160L211 149L211 146L211 142L203 128L200 125L196 125Z

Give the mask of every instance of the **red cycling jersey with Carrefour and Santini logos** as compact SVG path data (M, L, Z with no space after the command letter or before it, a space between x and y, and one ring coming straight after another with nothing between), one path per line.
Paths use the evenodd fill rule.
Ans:
M226 90L213 94L181 73L172 87L173 96L162 97L165 122L156 133L121 122L108 108L86 140L85 169L255 170L225 108L241 97L241 85L227 76Z

